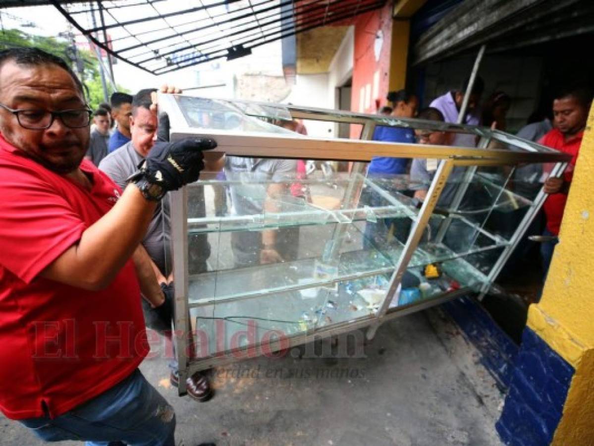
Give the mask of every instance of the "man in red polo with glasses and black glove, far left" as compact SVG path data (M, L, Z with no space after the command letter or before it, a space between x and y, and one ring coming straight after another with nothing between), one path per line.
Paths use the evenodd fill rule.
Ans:
M171 296L137 247L216 144L155 145L122 192L83 160L89 121L62 59L0 51L0 410L48 441L173 445L173 409L137 369L140 292L166 321Z

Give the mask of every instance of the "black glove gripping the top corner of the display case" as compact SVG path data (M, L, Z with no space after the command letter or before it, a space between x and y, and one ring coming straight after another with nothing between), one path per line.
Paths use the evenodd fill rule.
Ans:
M145 178L165 191L197 181L204 169L203 150L217 147L211 138L188 138L175 143L157 142L149 156L138 165Z

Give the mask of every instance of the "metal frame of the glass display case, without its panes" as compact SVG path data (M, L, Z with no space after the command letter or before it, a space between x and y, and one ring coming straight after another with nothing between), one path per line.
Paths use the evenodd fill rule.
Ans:
M366 115L352 112L337 112L336 110L315 109L310 107L274 105L256 102L240 102L240 101L220 101L225 105L241 113L254 118L277 118L277 119L292 119L301 118L315 121L331 121L349 124L361 124L362 139L366 140L364 144L361 140L339 140L331 138L311 138L303 137L301 135L285 135L285 134L263 134L258 132L252 133L233 133L228 130L214 130L201 129L197 131L191 128L184 115L176 105L176 95L165 94L160 95L159 106L169 114L170 122L172 124L170 136L172 141L184 137L195 137L197 133L206 137L212 137L217 140L219 147L223 148L228 156L244 156L244 157L268 157L280 159L312 159L312 160L342 160L355 162L350 175L349 187L345 190L346 198L354 197L353 191L356 188L357 181L366 181L364 175L364 162L371 161L374 156L392 156L392 157L407 157L407 158L424 158L424 159L438 159L440 163L435 173L431 186L425 201L422 203L418 216L414 219L412 228L410 230L408 239L403 246L402 253L399 260L396 262L394 268L387 268L393 271L388 285L388 292L386 299L384 299L377 314L369 314L366 317L359 317L352 321L338 322L333 325L315 327L305 333L296 334L289 337L288 346L281 343L279 340L271 340L266 345L262 343L250 344L245 347L240 347L235 350L226 350L223 353L208 356L206 358L190 358L191 353L188 351L190 341L189 330L189 308L192 306L189 303L188 296L188 210L187 210L187 190L182 188L179 191L171 194L171 222L172 222L172 242L173 242L173 271L175 276L175 327L178 333L183 333L185 336L176 336L176 351L179 361L179 394L185 393L185 379L193 374L195 371L201 369L211 368L217 365L224 365L226 363L236 362L238 356L248 356L247 352L256 351L261 352L263 347L267 351L274 352L276 350L293 347L299 344L304 344L315 339L321 339L328 336L352 331L357 328L369 327L366 333L368 339L371 339L375 330L379 325L395 317L410 314L412 312L421 311L430 306L438 305L445 301L454 299L460 295L464 295L470 291L476 291L473 287L462 287L455 292L443 292L440 295L425 299L419 302L412 303L405 306L397 306L396 308L389 308L391 299L396 293L397 287L402 280L403 274L407 270L409 261L411 260L415 249L422 237L429 218L437 205L438 198L441 191L443 191L447 183L450 173L457 166L470 166L466 170L457 192L454 196L453 203L450 210L458 210L466 189L469 186L470 179L472 179L476 167L478 166L505 166L505 165L519 165L520 163L555 163L551 171L551 175L560 175L569 157L566 154L559 153L549 148L543 147L531 141L522 140L521 138L505 134L504 132L480 128L475 126L448 124L444 122L421 121L418 119L400 119L390 116ZM213 100L214 101L214 100ZM370 141L377 125L382 126L399 126L404 128L414 129L428 129L432 131L447 131L447 132L464 132L474 134L479 138L479 144L476 148L468 147L451 147L451 146L436 146L436 145L421 145L421 144L399 144L399 143L384 143L380 141ZM504 148L490 149L487 148L490 141L500 141L504 144L513 144L515 147L521 149L505 150ZM205 182L205 184L207 184ZM503 189L503 186L501 187ZM349 195L350 194L350 195ZM389 194L388 198L390 197ZM538 212L546 195L541 191L536 198L532 200L530 209L526 211L519 227L514 232L511 239L504 246L503 252L499 255L498 260L493 265L488 276L486 276L485 283L482 284L479 293L484 294L492 281L500 273L501 268L507 261L511 252L519 242L530 222ZM391 200L392 203L395 200ZM217 217L217 219L199 219L201 223L216 223L216 220L228 217ZM441 227L438 230L437 238L443 237L445 230L447 230L448 219L444 219ZM335 231L340 231L338 225ZM345 226L345 225L343 225ZM336 238L339 234L335 233ZM334 243L337 245L337 243ZM336 248L336 246L334 246ZM463 254L467 255L467 254ZM386 271L386 272L390 272ZM373 271L374 274L380 274L378 271ZM349 277L339 276L334 279L329 279L333 283L349 280ZM311 284L300 285L295 284L292 289L299 290L311 287ZM316 283L315 286L320 286ZM285 290L286 287L283 287ZM278 292L278 291L277 291ZM264 293L269 294L270 291ZM263 295L252 293L252 295L240 295L234 299L248 299ZM213 298L216 303L216 298ZM227 302L227 301L225 301ZM208 303L208 302L207 302ZM200 305L205 305L201 303ZM255 349L255 350L254 350ZM252 356L250 356L252 357Z

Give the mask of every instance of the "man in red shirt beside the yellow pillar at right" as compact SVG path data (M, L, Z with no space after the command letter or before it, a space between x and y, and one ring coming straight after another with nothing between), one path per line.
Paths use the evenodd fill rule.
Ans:
M558 178L548 178L545 182L544 191L549 194L544 204L545 236L559 234L567 194L573 179L573 169L576 166L591 104L592 90L589 87L576 86L561 91L553 101L554 128L539 141L542 145L571 155L571 161L563 175ZM551 241L541 245L545 278L556 244L557 241Z

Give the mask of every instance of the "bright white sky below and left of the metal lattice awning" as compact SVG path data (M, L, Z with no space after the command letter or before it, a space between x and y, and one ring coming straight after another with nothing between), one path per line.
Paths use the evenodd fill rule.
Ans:
M119 16L120 20L127 20L125 14ZM5 8L0 10L0 26L4 29L17 28L29 34L42 36L58 36L63 31L75 30L69 25L64 16L53 6ZM25 26L23 26L25 25ZM84 37L80 36L77 40ZM214 72L213 72L214 69ZM282 74L280 65L280 42L271 43L254 49L254 54L238 59L233 62L226 62L225 59L217 59L214 62L198 65L198 68L181 69L168 74L155 76L142 69L136 68L122 61L113 65L113 75L117 84L128 88L134 93L141 88L158 87L162 84L174 84L180 88L197 87L201 85L229 83L233 73L248 71L268 71L268 74ZM197 71L206 71L197 75ZM196 90L208 94L207 90ZM222 90L216 90L221 94ZM225 93L222 93L225 95Z

